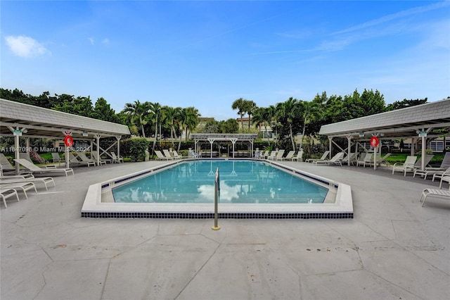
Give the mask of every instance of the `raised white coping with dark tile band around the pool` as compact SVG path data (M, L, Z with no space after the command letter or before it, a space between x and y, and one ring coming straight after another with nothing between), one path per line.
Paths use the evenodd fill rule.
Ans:
M211 160L233 160L233 158L206 158ZM242 160L236 158L234 160ZM169 161L157 167L141 170L129 175L116 177L105 182L98 182L89 186L82 206L82 217L86 218L214 218L214 204L129 204L102 202L102 189L111 188L115 184L164 170L169 165L184 161L195 161L189 158L178 161ZM203 158L205 160L205 158ZM353 218L352 190L335 180L314 175L276 161L255 160L270 163L277 168L296 173L297 175L309 177L310 179L328 184L336 190L335 203L324 204L220 204L218 208L219 218Z

